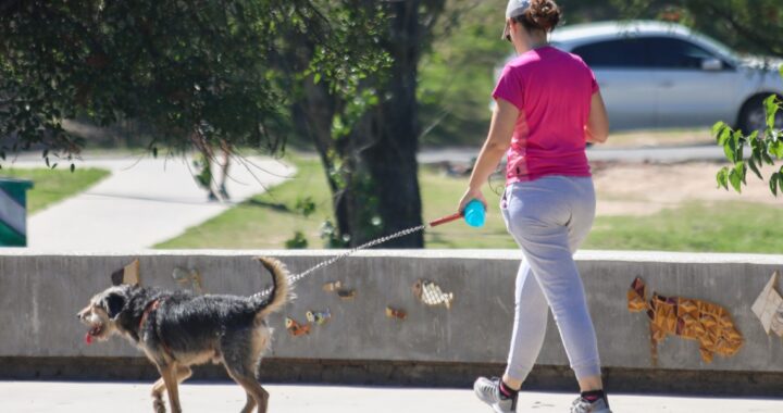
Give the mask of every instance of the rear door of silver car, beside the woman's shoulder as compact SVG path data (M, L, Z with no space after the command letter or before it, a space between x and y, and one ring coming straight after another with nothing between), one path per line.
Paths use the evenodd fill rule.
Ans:
M646 45L635 37L574 47L596 75L612 130L656 126L657 84Z

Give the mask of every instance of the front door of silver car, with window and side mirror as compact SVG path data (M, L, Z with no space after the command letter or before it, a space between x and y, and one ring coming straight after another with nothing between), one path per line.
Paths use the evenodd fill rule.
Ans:
M731 63L689 39L652 37L647 41L657 68L659 127L734 122L742 74Z

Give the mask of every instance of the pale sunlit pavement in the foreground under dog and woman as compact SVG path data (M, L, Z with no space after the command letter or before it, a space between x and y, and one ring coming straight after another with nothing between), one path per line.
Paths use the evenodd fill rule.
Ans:
M148 383L0 381L3 412L84 413L151 411ZM301 413L398 413L492 411L468 389L389 387L264 386L270 392L270 412ZM198 383L181 386L183 410L236 412L245 403L244 391L234 384ZM569 411L574 395L522 392L518 412ZM733 399L705 397L610 395L614 413L714 413L783 412L783 399Z

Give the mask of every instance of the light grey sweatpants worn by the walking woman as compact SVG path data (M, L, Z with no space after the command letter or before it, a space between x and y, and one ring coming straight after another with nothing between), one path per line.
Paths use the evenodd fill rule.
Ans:
M500 209L524 253L506 374L517 380L527 377L551 309L576 378L599 376L595 329L573 260L595 217L593 179L547 176L514 183L506 188Z

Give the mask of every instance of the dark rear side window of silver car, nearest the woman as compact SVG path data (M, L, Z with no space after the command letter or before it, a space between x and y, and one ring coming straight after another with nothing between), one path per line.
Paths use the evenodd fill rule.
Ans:
M593 68L645 68L652 67L646 45L639 38L598 41L582 45L573 53Z

